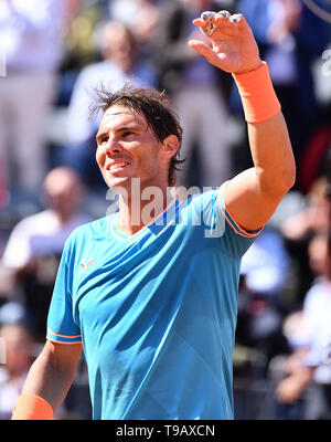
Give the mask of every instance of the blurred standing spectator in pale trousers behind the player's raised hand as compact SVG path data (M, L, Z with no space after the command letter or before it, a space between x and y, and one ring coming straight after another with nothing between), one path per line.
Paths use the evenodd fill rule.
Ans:
M222 2L211 0L173 0L162 11L154 35L153 59L159 87L172 96L181 115L184 134L181 156L188 159L188 166L183 167L179 181L184 185L218 186L231 175L225 138L228 76L188 46L190 39L204 40L192 24L193 18L204 10L220 9ZM224 9L231 10L228 2ZM202 149L199 157L201 182L196 176L190 176L195 143Z

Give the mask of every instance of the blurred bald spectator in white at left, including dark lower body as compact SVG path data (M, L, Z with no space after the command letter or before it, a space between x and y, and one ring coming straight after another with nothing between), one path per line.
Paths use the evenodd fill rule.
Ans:
M23 287L38 338L44 339L50 296L64 242L77 225L89 221L81 212L82 199L83 188L73 170L64 167L51 170L44 180L46 209L20 221L4 249L2 265Z

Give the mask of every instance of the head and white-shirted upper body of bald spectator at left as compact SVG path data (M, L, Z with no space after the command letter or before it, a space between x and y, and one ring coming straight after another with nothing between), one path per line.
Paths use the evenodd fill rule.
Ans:
M61 255L64 243L78 225L90 221L82 212L83 183L64 166L50 170L43 182L45 209L21 220L11 232L2 256L6 267L23 271L41 256Z

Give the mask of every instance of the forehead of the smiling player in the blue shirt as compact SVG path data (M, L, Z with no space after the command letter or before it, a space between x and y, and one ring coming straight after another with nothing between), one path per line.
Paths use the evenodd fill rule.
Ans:
M100 130L116 130L128 125L130 127L141 127L143 129L148 126L143 115L138 114L138 112L129 107L114 105L105 112L100 123Z

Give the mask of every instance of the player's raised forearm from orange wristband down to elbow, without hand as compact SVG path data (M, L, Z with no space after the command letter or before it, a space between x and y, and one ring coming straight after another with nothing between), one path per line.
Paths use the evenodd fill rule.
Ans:
M280 103L266 63L233 74L248 125L248 138L259 191L282 196L295 181L295 159Z

